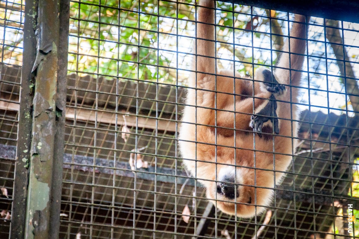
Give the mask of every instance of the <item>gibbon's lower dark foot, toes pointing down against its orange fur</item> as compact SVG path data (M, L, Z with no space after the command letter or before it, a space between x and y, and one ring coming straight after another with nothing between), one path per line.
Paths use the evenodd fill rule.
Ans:
M268 103L256 115L251 116L250 127L259 135L265 122L271 120L274 132L279 134L279 123L277 116L277 102L273 94L271 94Z

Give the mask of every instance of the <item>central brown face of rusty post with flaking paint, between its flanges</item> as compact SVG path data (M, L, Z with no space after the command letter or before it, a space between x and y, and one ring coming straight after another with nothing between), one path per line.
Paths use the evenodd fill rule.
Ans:
M39 0L37 8L36 72L25 238L50 238L51 185L55 143L59 5Z

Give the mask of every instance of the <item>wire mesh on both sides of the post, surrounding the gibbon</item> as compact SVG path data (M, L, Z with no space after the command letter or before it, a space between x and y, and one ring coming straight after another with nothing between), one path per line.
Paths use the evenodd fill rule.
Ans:
M0 211L11 214L23 3L0 10ZM208 204L178 153L197 11L194 1L70 2L59 238L357 238L359 25L312 17L299 147L267 213L242 219ZM218 68L275 66L293 14L224 2L215 14Z

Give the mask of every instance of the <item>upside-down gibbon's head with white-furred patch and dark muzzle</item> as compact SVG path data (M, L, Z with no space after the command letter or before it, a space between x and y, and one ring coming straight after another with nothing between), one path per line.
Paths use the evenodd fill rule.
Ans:
M270 203L272 192L266 188L274 186L272 173L228 165L217 166L217 170L217 179L213 175L210 179L213 181L204 185L207 198L221 211L248 218L264 211L263 206Z

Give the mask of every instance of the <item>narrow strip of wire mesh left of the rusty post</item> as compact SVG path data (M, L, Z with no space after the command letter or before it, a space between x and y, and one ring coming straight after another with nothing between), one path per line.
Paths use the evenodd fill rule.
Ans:
M0 3L0 188L6 190L0 195L0 238L8 238L10 229L20 87L20 70L11 66L22 63L23 8L22 1Z

